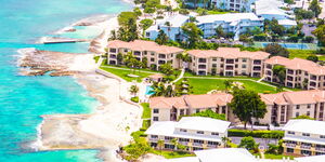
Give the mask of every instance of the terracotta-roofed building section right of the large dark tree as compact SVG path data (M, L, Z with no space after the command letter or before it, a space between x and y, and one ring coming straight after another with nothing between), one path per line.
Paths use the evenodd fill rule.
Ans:
M260 123L285 124L299 116L309 116L324 121L325 91L310 90L260 94L266 104L268 112Z

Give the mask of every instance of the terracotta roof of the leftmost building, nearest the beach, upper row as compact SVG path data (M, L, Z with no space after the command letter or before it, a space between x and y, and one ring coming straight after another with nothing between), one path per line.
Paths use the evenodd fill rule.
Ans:
M108 41L107 48L116 48L116 49L123 48L123 49L130 49L132 51L153 51L162 54L178 53L184 51L180 48L159 45L156 42L144 41L144 40L134 40L132 42L113 40L113 41Z

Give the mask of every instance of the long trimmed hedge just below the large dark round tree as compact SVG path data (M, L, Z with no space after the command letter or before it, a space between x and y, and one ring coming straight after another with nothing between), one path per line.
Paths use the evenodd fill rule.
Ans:
M284 131L249 131L249 130L229 130L227 136L246 137L252 136L257 138L283 138Z

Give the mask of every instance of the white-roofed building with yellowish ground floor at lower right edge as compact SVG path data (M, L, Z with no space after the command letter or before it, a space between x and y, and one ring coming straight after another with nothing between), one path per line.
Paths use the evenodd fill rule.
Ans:
M325 122L290 120L284 127L284 153L292 156L325 154Z

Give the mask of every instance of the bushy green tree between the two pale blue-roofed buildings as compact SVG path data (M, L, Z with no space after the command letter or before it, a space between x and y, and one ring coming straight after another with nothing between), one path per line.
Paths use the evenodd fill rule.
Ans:
M187 36L186 48L195 49L197 43L202 41L204 32L194 23L186 23L181 27L185 36Z

